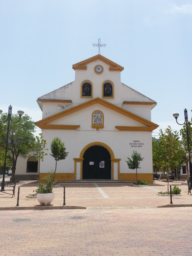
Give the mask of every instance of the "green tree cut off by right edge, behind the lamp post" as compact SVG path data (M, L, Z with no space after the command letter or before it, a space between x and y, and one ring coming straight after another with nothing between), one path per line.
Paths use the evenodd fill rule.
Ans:
M189 151L190 151L190 156L188 156L188 142L187 142L187 133L186 133L186 123L182 126L180 129L180 135L182 137L182 144L184 146L184 151L185 151L185 162L186 162L186 174L187 174L187 180L188 178L188 157L191 159L191 151L192 151L192 127L187 124L187 129L188 129L188 142L189 142Z

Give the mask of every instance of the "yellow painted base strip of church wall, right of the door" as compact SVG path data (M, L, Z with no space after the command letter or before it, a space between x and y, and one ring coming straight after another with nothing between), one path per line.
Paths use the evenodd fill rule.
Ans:
M137 173L137 179L153 183L152 173ZM136 173L119 173L119 180L136 182Z

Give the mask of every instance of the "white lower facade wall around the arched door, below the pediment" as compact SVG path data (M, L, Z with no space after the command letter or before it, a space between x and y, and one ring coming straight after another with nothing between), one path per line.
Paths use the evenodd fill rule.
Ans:
M84 146L91 142L99 141L107 144L113 151L115 158L120 160L120 173L134 173L133 170L128 169L125 162L126 157L130 157L133 150L141 153L144 157L140 164L140 173L152 173L152 146L151 146L151 132L147 131L107 131L99 129L92 130L43 130L43 138L46 139L47 147L50 148L51 140L58 136L64 141L68 156L64 160L57 163L57 172L74 172L74 157L79 157ZM140 140L144 143L142 147L131 147L129 143L133 140ZM49 155L44 157L40 164L40 172L47 172L54 169L55 160Z

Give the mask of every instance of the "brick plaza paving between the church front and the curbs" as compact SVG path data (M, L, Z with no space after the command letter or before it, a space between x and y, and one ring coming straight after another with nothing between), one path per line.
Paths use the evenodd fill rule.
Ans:
M191 204L192 196L187 194L187 182L171 181L170 184L181 188L181 196L173 197L173 204ZM0 207L15 207L17 189L20 186L19 207L39 205L36 198L26 195L36 189L36 181L21 181L16 183L15 196L0 192ZM169 196L159 196L157 191L166 191L167 183L155 181L148 186L137 187L129 183L58 183L53 191L55 198L53 206L63 204L63 186L65 186L66 205L85 207L157 207L170 203ZM98 190L99 188L99 190Z

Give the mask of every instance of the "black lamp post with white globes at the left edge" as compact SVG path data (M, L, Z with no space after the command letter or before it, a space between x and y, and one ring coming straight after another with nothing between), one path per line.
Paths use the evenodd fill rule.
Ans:
M0 114L2 113L2 109L0 109ZM18 121L20 120L20 117L21 115L24 113L24 111L22 109L19 109L17 111L18 115L19 115L19 119ZM7 132L6 132L6 147L5 147L5 156L4 156L4 167L3 167L3 174L2 174L2 184L1 184L1 189L0 191L4 191L4 176L5 176L5 167L6 167L6 152L7 152L7 143L8 143L8 130L9 130L9 122L14 122L12 119L11 119L11 114L12 114L12 106L9 105L8 107L8 114L7 114L7 119L5 121L0 121L0 122L6 122L8 120L8 125L7 125ZM16 121L16 122L18 122ZM14 122L14 123L16 123Z

